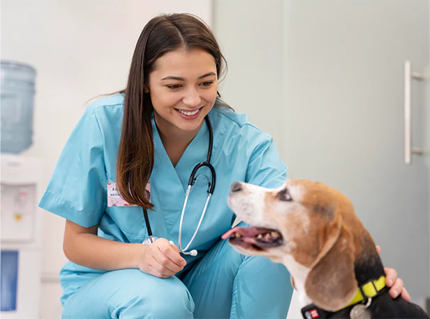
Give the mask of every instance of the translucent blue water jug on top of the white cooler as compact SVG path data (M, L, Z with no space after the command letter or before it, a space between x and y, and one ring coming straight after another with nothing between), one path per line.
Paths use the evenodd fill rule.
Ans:
M30 65L0 61L0 153L21 153L33 143L34 83Z

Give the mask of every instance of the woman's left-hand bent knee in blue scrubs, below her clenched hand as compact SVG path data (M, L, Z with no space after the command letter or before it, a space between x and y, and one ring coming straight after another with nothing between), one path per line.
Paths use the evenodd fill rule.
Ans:
M77 290L66 303L63 318L191 319L193 311L193 299L176 277L117 270Z

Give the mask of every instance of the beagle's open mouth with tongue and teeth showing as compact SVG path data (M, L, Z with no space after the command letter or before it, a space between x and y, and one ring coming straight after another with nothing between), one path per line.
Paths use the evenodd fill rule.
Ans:
M244 247L245 249L265 250L278 247L283 243L279 231L261 227L235 227L221 236L223 240Z

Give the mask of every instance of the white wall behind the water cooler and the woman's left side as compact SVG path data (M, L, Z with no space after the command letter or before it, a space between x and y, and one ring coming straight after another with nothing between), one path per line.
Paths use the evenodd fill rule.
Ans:
M144 24L165 12L194 13L212 25L210 0L0 0L0 59L30 63L38 72L34 145L24 155L43 158L43 187L84 103L124 88ZM66 262L64 219L44 212L43 227L41 318L54 319Z

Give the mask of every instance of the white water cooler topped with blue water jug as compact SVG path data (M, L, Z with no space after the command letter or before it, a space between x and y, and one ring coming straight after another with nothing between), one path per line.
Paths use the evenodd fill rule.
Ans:
M0 319L39 319L41 161L32 144L34 68L0 61Z

